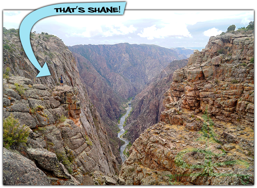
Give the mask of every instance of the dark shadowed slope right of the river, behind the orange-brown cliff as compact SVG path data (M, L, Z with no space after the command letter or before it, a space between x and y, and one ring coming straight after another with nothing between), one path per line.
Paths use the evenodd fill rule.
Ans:
M164 110L164 93L170 87L173 71L186 66L188 60L174 60L162 72L136 95L132 101L133 110L127 119L126 138L134 142L146 128L160 121Z

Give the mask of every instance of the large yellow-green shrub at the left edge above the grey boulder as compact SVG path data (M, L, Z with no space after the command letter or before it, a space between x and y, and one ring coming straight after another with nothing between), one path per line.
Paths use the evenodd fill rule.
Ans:
M3 147L17 147L19 143L26 143L29 136L29 128L20 125L13 114L3 120Z

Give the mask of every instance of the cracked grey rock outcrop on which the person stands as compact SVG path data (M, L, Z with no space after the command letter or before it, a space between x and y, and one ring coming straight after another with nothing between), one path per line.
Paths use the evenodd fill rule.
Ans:
M31 129L26 145L20 145L17 150L35 161L47 173L52 185L86 183L84 176L95 170L106 175L115 173L115 158L99 157L111 151L103 150L89 125L83 126L80 122L82 105L77 88L64 85L51 91L43 84L12 76L8 81L4 79L3 94L3 117L12 114L21 125ZM95 126L101 128L101 125ZM4 168L7 167L4 165ZM8 181L5 183L9 185Z

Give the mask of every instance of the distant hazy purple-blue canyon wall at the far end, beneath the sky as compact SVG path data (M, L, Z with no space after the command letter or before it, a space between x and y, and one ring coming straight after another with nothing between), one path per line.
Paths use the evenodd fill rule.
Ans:
M124 99L139 93L172 60L186 58L156 45L75 45L69 49L85 57Z

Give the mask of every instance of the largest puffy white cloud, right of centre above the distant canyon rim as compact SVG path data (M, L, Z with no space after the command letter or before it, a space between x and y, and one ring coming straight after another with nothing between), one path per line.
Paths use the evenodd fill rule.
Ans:
M192 37L186 28L186 24L175 23L166 24L164 27L157 29L156 25L144 28L143 32L138 33L140 37L147 37L148 40L154 38L163 39L164 37L177 36L177 37Z

